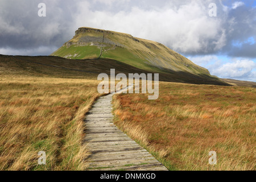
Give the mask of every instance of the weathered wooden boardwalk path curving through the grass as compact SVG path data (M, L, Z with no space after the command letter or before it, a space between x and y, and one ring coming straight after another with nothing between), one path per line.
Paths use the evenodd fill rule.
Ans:
M88 143L91 152L89 170L167 170L114 125L111 103L113 94L98 98L86 115L85 143Z

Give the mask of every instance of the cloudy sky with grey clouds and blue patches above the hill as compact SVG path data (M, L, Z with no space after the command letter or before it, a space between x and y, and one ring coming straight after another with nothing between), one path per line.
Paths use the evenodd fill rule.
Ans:
M256 81L256 1L0 0L0 54L49 55L79 27L154 40L212 75Z

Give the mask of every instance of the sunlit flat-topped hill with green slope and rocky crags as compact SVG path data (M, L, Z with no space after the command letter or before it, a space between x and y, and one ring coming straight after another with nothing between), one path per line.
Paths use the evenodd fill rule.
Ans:
M67 59L112 59L144 71L168 73L175 82L188 82L197 77L197 84L228 85L209 71L163 44L134 38L129 34L82 27L75 36L51 56ZM206 81L207 80L207 81ZM192 82L191 82L192 83Z

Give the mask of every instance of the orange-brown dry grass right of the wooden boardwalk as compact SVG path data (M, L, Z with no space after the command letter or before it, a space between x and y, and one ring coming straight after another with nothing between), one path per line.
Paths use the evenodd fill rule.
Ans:
M169 169L256 169L255 88L160 82L159 90L158 100L115 96L115 123Z

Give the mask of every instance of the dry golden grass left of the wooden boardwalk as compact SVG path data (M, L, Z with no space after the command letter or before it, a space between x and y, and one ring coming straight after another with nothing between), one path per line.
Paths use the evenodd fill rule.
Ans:
M0 78L0 170L83 170L84 115L100 96L97 80ZM38 165L38 152L46 165Z

